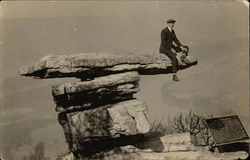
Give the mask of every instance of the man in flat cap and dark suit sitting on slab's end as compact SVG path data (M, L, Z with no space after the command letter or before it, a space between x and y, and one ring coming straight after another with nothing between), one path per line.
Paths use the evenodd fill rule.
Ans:
M177 39L175 31L173 30L175 22L174 19L168 19L167 27L161 31L160 53L167 55L171 59L173 80L180 81L177 77L178 60L176 53L182 51L186 56L189 48L188 46L183 46Z

